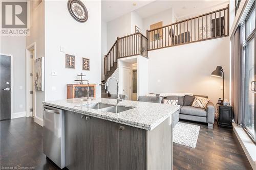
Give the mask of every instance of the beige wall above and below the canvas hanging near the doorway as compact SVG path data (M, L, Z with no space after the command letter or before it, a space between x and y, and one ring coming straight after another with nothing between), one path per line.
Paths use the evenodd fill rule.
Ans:
M30 35L26 38L26 46L34 42L36 44L35 57L45 57L45 1L35 10L31 10L31 28ZM44 100L45 91L35 91L35 122L39 124L42 124L42 101Z

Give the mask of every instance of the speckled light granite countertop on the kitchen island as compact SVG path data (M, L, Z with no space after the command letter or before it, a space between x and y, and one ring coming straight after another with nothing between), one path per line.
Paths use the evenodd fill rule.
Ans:
M42 102L44 105L69 110L88 116L110 120L112 122L129 125L145 130L153 130L166 118L180 108L179 105L167 105L137 101L122 101L117 104L116 99L90 98L92 101L82 101L86 98L76 98L58 101ZM120 113L107 112L100 109L91 109L86 104L103 103L116 106L134 107Z

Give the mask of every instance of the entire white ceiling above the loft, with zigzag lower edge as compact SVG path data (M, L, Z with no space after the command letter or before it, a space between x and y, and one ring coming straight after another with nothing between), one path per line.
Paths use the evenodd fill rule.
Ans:
M228 3L228 0L102 1L102 20L108 22L131 11L136 11L141 18L146 18L170 8L174 9L178 18L182 18L225 3Z

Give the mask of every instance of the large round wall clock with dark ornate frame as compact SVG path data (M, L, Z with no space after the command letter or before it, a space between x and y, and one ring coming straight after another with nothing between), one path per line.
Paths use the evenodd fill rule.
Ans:
M68 9L71 16L78 22L85 22L88 19L86 6L79 0L69 0Z

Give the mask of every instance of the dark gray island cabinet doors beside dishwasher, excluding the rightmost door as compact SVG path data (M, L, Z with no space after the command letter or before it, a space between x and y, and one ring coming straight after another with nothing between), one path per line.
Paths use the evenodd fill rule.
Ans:
M65 116L66 167L118 169L118 124L70 111Z

